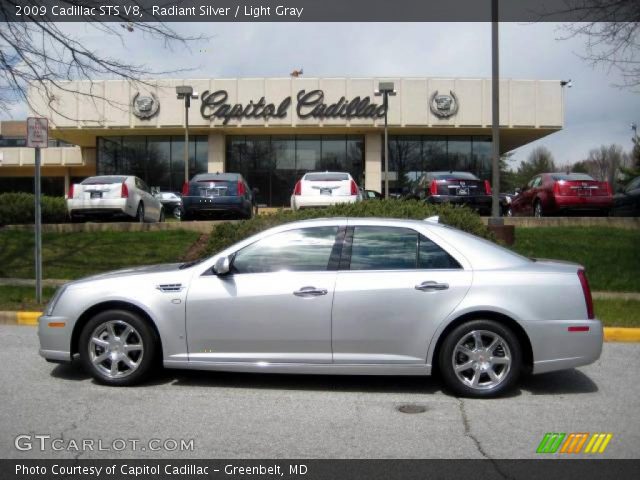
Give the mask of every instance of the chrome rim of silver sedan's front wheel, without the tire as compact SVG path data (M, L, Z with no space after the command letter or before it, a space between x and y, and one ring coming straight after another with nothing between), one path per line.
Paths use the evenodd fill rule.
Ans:
M123 320L98 325L89 338L88 348L90 361L108 378L131 375L144 355L140 333Z

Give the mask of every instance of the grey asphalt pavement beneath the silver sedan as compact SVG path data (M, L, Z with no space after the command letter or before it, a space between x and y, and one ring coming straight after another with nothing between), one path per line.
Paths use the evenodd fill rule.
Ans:
M530 377L507 398L460 400L421 377L165 371L110 388L46 363L37 343L35 328L0 325L0 458L532 458L546 432L611 432L603 458L640 451L639 344L605 344L596 364ZM51 437L45 451L35 435ZM151 439L193 450L151 451Z

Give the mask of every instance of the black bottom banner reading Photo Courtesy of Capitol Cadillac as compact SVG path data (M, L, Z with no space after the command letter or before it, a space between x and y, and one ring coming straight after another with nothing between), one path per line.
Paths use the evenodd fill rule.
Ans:
M0 460L3 480L636 479L640 460Z

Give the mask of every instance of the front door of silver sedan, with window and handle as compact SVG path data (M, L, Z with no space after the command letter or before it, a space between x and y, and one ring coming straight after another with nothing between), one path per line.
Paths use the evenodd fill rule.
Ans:
M193 279L189 360L331 363L337 233L337 226L276 233L236 252L229 274Z

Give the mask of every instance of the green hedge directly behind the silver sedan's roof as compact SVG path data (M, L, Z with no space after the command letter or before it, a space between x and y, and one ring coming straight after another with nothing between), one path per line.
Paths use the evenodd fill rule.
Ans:
M438 215L443 224L494 240L493 234L482 223L480 215L466 207L455 207L449 204L427 205L417 200L371 200L297 212L279 210L272 215L260 215L239 223L222 223L213 227L207 253L219 252L268 228L309 218L385 217L423 220L434 215Z

